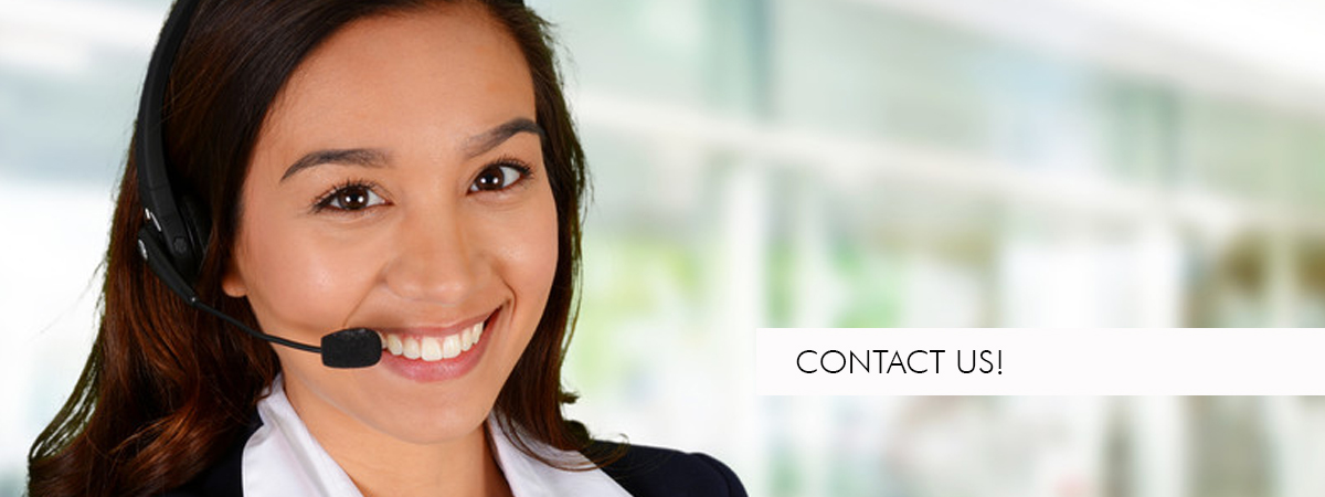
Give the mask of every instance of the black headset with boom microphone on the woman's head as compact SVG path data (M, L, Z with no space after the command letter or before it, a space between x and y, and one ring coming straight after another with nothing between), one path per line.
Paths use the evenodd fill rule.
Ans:
M382 359L382 335L366 327L341 330L322 337L322 346L289 341L245 326L225 313L204 304L193 292L207 252L208 219L197 204L187 196L178 196L171 188L166 167L166 147L162 134L162 107L166 82L175 53L184 40L184 25L192 16L196 1L179 0L162 28L160 40L152 50L147 66L147 81L138 107L138 137L135 160L138 168L138 196L147 223L138 231L138 252L162 282L189 306L216 315L245 333L264 341L322 355L327 367L368 367Z

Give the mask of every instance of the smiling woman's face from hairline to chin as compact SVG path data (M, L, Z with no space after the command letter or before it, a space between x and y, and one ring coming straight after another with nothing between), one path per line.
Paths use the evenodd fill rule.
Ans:
M473 435L538 325L556 209L518 45L481 7L356 21L269 110L227 294L306 343L380 331L374 367L276 347L314 435ZM481 333L478 333L481 330Z

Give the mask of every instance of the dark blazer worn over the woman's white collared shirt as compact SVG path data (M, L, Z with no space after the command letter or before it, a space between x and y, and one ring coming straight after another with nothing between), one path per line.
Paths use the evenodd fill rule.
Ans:
M235 444L217 464L164 497L241 497L240 468L248 435ZM612 452L617 444L595 443L592 451ZM741 480L725 464L704 453L627 445L620 459L603 467L603 472L636 497L746 497Z

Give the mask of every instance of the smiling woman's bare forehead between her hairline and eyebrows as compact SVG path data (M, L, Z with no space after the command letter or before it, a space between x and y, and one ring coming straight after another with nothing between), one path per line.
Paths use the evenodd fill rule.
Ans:
M514 38L481 5L439 5L363 19L329 37L286 81L258 147L412 138L458 147L517 117L534 117L534 93Z

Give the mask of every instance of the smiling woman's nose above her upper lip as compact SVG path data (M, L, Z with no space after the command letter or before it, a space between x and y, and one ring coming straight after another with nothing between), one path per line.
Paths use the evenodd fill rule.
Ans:
M395 257L384 273L392 293L443 305L461 304L473 293L482 268L476 264L480 256L454 209L409 213L398 225L395 239Z

